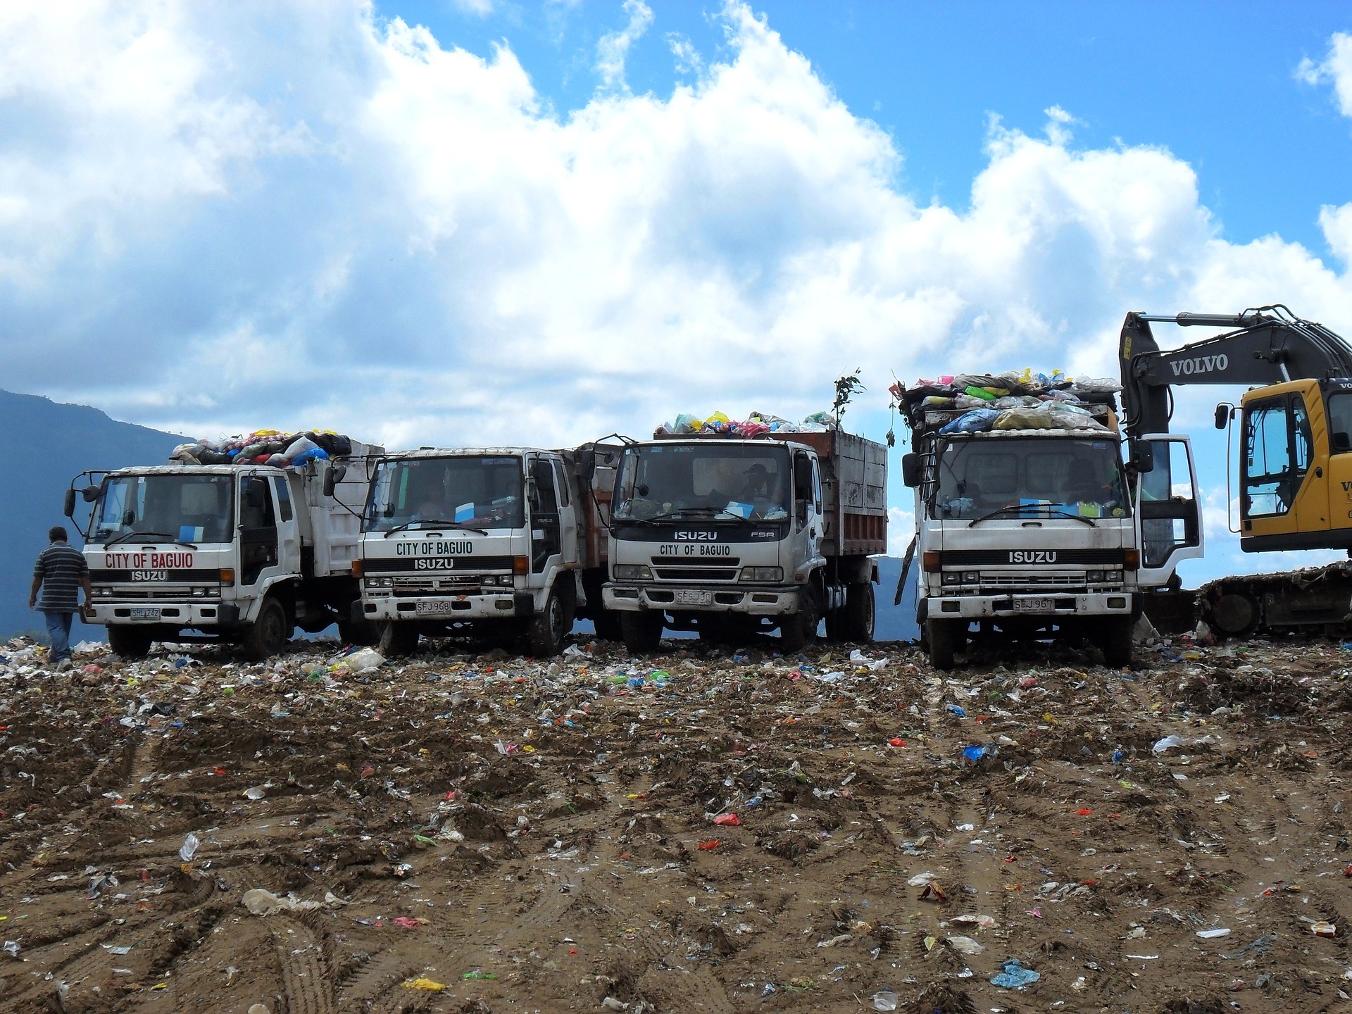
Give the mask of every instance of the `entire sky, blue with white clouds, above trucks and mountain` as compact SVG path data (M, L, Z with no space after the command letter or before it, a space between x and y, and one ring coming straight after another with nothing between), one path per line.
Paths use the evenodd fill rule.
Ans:
M1348 32L1317 3L0 5L0 376L208 437L558 446L800 418L859 366L880 438L894 372L1113 375L1132 308L1352 335ZM1179 397L1190 580L1314 560L1225 537L1234 395Z

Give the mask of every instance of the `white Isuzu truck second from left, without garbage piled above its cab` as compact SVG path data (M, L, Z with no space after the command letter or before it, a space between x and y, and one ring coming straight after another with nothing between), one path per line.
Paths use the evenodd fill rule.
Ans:
M557 654L577 617L614 638L602 604L618 445L422 448L370 460L354 621L379 650L470 634Z

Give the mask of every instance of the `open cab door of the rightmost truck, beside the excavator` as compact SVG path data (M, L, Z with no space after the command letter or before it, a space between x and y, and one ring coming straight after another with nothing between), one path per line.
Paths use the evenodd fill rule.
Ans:
M1137 581L1157 588L1180 560L1202 556L1202 511L1188 438L1148 434L1141 442L1151 445L1155 468L1136 479Z

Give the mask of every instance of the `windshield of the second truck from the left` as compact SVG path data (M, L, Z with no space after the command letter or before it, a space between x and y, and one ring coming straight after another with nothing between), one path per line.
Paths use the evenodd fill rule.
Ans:
M365 530L431 522L519 529L526 523L521 458L464 454L381 461L370 483Z

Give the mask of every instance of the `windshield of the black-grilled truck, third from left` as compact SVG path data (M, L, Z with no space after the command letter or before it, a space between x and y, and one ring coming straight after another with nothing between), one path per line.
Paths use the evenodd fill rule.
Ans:
M788 516L788 449L772 443L657 443L627 448L617 479L617 521L658 516Z

